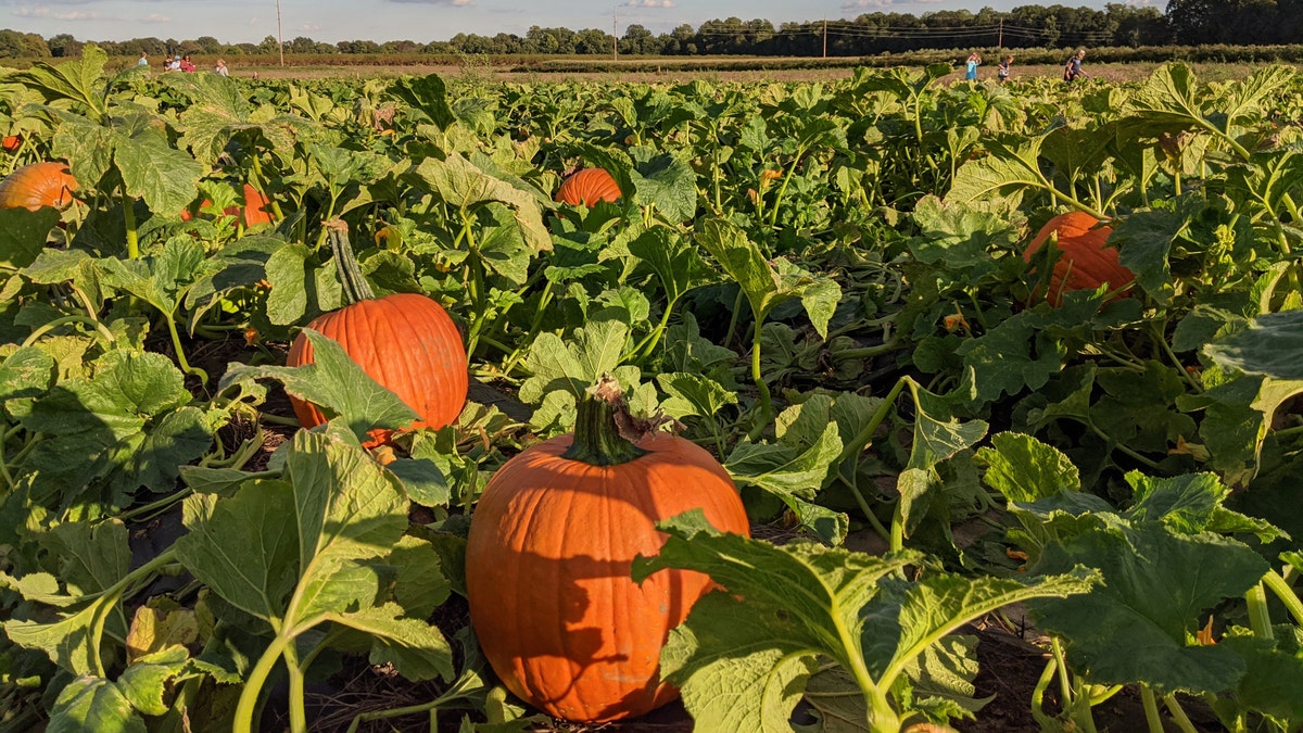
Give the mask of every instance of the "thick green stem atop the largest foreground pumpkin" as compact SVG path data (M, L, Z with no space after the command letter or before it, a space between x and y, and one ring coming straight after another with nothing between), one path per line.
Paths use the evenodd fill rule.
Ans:
M628 463L648 453L633 443L646 433L648 424L629 415L620 383L615 377L603 374L597 385L584 390L575 419L575 442L562 458L582 460L589 466ZM650 429L655 429L654 423Z

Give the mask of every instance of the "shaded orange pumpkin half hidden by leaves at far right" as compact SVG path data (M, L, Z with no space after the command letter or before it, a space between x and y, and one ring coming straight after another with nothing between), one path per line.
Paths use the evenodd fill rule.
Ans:
M1118 291L1135 280L1135 273L1118 261L1117 248L1105 247L1113 228L1100 226L1098 219L1083 211L1068 211L1046 222L1023 252L1023 261L1031 263L1054 233L1059 252L1045 293L1050 304L1061 305L1067 291L1095 290L1104 283Z

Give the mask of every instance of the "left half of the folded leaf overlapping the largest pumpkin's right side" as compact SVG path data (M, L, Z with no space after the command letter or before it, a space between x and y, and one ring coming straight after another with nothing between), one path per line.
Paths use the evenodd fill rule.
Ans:
M635 580L662 567L692 567L728 588L697 601L661 653L662 674L683 687L702 730L787 729L817 655L848 666L859 655L860 612L878 580L915 560L813 544L777 548L719 535L700 513L661 528L670 540L658 557L635 561ZM852 646L829 648L831 639Z

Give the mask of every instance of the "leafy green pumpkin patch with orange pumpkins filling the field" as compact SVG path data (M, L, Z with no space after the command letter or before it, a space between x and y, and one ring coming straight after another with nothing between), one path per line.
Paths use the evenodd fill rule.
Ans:
M1303 729L1298 70L106 61L0 72L0 730Z

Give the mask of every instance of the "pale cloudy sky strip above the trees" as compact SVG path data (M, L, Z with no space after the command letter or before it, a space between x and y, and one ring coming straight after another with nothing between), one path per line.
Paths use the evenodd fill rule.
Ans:
M280 0L281 37L313 40L447 40L457 33L524 35L530 26L614 27L629 23L654 34L688 23L737 17L788 21L853 18L861 13L936 10L1054 3L1104 8L1108 0ZM1130 0L1154 5L1165 0ZM72 34L78 40L164 40L211 35L223 43L258 43L276 37L276 0L0 0L0 27L44 38Z

